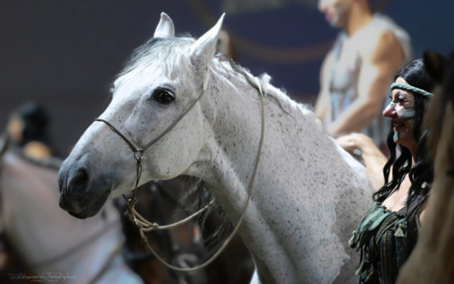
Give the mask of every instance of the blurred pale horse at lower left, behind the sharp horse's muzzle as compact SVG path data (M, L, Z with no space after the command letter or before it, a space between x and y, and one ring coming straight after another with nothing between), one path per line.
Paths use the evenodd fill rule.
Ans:
M0 159L0 169L0 232L33 277L71 284L142 283L121 256L124 237L112 202L103 214L77 220L57 205L57 169L11 150Z

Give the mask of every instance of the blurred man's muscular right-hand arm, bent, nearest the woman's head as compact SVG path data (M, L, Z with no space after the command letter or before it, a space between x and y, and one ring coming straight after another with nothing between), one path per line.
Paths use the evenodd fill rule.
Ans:
M380 115L389 82L402 65L402 48L391 32L369 35L361 43L362 66L358 80L358 98L341 115L327 125L331 135L360 132Z

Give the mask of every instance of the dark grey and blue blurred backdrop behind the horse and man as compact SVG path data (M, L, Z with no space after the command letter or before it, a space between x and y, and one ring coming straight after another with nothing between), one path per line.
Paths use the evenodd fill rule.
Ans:
M454 2L374 0L411 37L414 57L454 47ZM316 0L1 1L0 125L31 99L50 113L61 157L109 103L109 84L135 47L153 36L165 11L176 33L199 37L223 24L236 59L294 100L314 103L319 72L338 30Z

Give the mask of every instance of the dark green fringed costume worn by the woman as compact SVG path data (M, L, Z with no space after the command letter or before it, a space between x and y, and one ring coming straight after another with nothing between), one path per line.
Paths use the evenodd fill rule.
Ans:
M409 254L418 235L417 212L420 199L399 212L387 210L375 201L358 229L353 232L349 245L361 251L357 274L360 283L392 284Z

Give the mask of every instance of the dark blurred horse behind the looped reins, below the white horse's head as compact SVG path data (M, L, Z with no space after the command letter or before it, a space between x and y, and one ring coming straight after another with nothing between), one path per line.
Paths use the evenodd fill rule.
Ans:
M150 181L139 188L135 208L146 219L167 225L191 215L206 203L204 193L204 183L189 176ZM116 204L121 212L125 212L127 205L123 198L117 198ZM214 208L199 220L169 230L147 232L149 242L167 262L180 267L194 266L208 259L211 251L216 250L216 244L230 232L230 222L218 211ZM123 256L145 283L240 284L248 283L252 276L253 261L238 236L210 266L191 273L172 271L148 253L138 229L126 215L123 216L123 232L126 234Z

